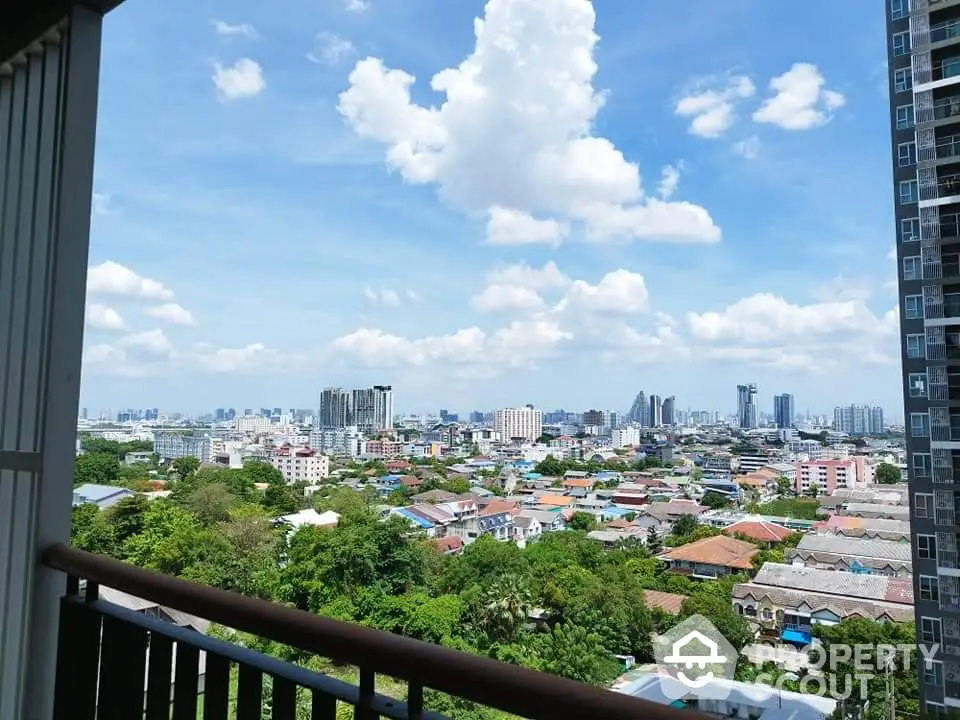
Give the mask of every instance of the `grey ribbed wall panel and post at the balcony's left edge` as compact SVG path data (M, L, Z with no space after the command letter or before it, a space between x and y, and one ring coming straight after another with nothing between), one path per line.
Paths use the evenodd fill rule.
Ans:
M0 717L46 718L69 539L101 17L0 65Z

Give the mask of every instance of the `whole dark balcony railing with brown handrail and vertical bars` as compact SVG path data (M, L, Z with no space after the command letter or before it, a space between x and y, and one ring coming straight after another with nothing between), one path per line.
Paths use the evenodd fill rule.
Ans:
M241 720L259 720L265 704L276 720L294 720L307 707L313 718L335 720L343 704L354 708L355 720L440 718L424 708L427 688L523 718L691 718L629 695L196 585L66 545L48 548L43 561L68 575L57 720L196 720L201 697L204 718L226 718L233 706ZM353 665L360 669L359 685L105 602L98 598L101 585L304 655ZM406 700L377 694L377 675L405 682ZM265 679L270 698L264 697Z

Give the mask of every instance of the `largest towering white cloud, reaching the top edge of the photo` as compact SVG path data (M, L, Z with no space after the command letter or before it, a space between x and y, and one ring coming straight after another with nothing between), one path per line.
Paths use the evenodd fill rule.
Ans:
M491 239L530 241L513 221L532 221L527 229L548 244L570 222L595 240L718 241L706 210L645 196L637 164L591 135L606 97L593 87L594 22L586 0L489 0L474 51L431 81L446 96L440 107L411 102L414 77L367 58L339 110L387 146L388 166L407 182L436 184L472 216L509 218L494 230L511 232Z

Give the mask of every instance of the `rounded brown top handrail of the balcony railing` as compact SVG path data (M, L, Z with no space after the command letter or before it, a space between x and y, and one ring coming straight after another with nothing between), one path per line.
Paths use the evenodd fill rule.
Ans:
M691 717L689 711L199 585L64 544L47 547L42 561L68 575L234 630L525 718Z

